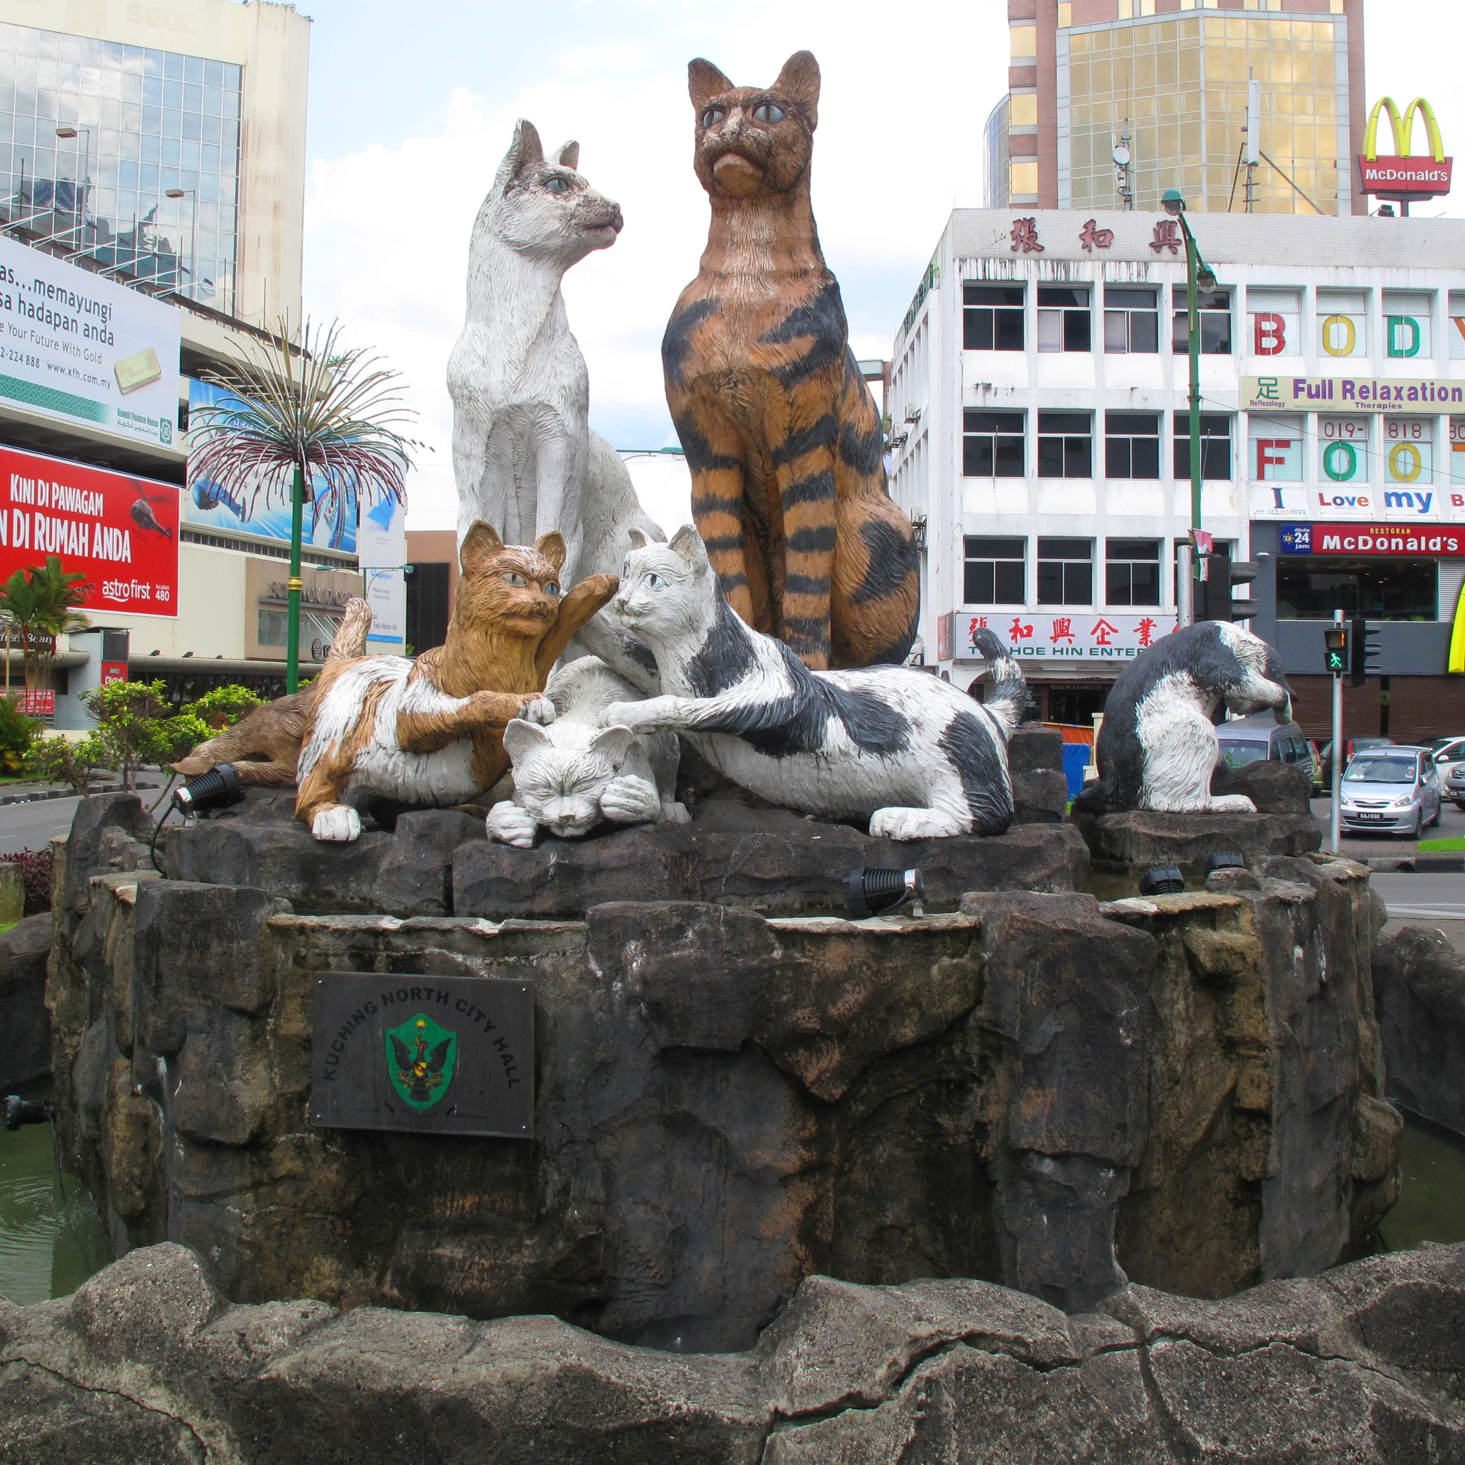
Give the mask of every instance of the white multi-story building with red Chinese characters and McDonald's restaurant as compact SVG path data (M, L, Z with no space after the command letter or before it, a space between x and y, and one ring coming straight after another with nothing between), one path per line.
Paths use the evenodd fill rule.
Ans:
M1465 580L1465 224L1190 223L1216 275L1200 297L1201 527L1261 565L1251 624L1282 650L1304 724L1324 716L1321 621L1340 607L1384 623L1379 712L1355 709L1360 731L1387 727L1390 706L1395 737L1465 728L1465 678L1447 674ZM1187 340L1169 215L952 212L889 391L891 491L926 520L926 665L971 681L986 624L1021 656L1033 712L1084 722L1173 628Z

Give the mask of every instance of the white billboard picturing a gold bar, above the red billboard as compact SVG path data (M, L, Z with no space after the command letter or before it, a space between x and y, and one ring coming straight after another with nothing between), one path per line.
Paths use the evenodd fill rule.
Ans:
M179 312L0 239L0 398L132 442L171 445Z

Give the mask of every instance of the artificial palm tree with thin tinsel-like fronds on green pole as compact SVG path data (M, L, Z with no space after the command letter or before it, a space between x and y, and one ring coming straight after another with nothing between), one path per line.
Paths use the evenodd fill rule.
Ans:
M327 519L368 497L403 497L410 438L393 423L412 419L400 406L397 372L365 350L343 350L340 327L302 327L292 343L251 341L236 360L205 379L231 393L198 407L189 422L189 485L211 479L245 505L290 504L290 612L286 690L300 681L300 538L306 501Z

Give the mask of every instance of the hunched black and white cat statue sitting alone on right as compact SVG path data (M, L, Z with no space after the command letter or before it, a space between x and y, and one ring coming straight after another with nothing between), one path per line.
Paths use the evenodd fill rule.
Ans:
M1228 621L1197 621L1160 637L1109 691L1099 778L1074 800L1074 813L1256 813L1245 794L1210 791L1220 757L1212 716L1222 702L1238 713L1273 708L1286 716L1292 689L1277 653Z

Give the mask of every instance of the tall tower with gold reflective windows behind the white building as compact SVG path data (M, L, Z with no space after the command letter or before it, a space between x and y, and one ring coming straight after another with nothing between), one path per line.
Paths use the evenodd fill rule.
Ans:
M1008 92L986 127L989 208L1245 211L1258 82L1264 214L1364 214L1362 0L1008 0ZM1115 145L1128 138L1128 174Z

